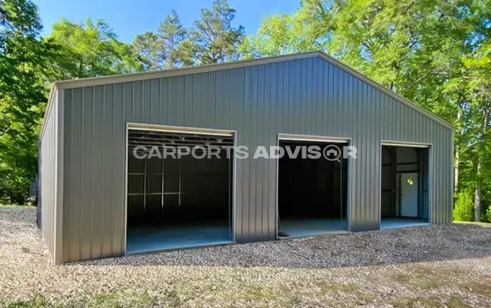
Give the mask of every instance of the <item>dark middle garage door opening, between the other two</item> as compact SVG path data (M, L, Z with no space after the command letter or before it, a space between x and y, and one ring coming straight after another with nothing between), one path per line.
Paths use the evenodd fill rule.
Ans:
M348 159L329 149L342 149L348 143L280 140L288 153L300 151L297 157L285 154L278 160L278 237L311 236L346 232ZM308 147L328 147L328 158L302 158ZM312 148L314 149L314 148Z

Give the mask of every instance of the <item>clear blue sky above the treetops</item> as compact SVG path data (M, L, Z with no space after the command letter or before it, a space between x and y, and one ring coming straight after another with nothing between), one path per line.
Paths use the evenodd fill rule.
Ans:
M213 0L34 0L43 21L43 35L51 31L51 25L67 18L82 22L90 17L102 18L128 43L136 34L155 31L159 23L175 9L184 27L190 27L199 17L201 8L211 7ZM246 34L254 34L261 19L276 13L290 14L300 6L300 0L229 0L236 10L234 26L243 25Z

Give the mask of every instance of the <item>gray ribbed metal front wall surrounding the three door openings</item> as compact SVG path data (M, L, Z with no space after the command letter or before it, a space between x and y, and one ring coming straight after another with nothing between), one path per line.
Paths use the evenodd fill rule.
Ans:
M126 123L351 138L350 228L379 228L382 140L431 143L431 222L451 221L452 131L322 58L65 90L63 260L123 255ZM276 161L237 160L236 240L275 239Z

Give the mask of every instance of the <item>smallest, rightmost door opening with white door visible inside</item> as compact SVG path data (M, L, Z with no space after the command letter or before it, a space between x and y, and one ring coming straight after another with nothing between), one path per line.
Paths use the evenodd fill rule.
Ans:
M382 145L380 229L428 223L429 148Z

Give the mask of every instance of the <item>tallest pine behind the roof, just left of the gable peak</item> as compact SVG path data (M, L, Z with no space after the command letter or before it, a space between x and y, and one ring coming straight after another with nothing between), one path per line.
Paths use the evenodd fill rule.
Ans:
M234 16L235 10L227 0L215 0L212 8L203 8L200 18L194 20L184 53L195 56L196 64L238 59L238 45L243 39L244 28L232 27Z

